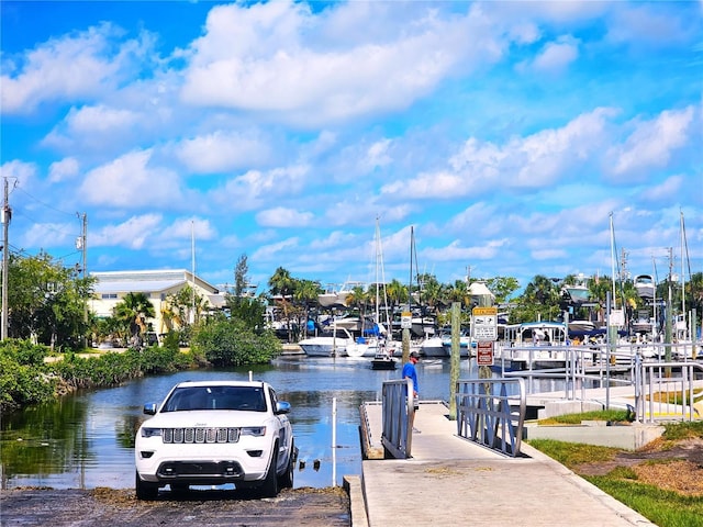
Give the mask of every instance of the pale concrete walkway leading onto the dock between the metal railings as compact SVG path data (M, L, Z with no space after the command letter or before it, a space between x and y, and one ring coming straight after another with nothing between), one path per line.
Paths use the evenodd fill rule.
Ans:
M458 437L448 413L421 402L412 458L362 461L360 479L346 482L354 527L655 525L528 445L509 458ZM381 405L361 414L362 450L382 457Z

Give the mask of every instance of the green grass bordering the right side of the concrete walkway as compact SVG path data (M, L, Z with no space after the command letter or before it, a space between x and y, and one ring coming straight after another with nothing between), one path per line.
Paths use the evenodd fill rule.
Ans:
M585 414L579 414L579 423ZM591 417L592 418L592 417ZM703 438L703 422L672 423L665 427L667 444L689 438ZM529 445L579 472L585 463L609 463L615 459L617 448L534 439ZM672 460L651 460L646 463L666 463ZM631 467L616 466L605 475L582 475L603 492L624 503L659 527L703 527L703 497L684 495L658 485L638 481Z

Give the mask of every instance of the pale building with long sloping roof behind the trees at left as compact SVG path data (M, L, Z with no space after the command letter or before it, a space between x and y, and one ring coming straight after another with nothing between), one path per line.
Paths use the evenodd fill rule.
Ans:
M219 310L224 305L224 294L217 288L185 269L105 271L91 272L90 276L97 279L93 298L89 304L96 316L112 316L112 309L122 302L125 294L144 293L154 304L156 316L147 322L152 323L157 334L168 332L163 316L163 311L167 307L166 299L186 285L194 289L196 293L204 299L209 311Z

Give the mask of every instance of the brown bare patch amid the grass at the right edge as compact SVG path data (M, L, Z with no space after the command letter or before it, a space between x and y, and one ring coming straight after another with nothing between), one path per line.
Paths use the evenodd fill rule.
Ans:
M609 461L583 463L579 475L605 475L620 468L631 469L636 481L688 496L703 496L703 439L680 441L658 439L634 452L622 451Z

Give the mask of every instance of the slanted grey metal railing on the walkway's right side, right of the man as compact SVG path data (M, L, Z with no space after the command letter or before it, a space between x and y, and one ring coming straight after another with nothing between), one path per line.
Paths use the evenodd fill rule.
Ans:
M516 457L523 437L526 395L523 379L457 381L457 434Z

